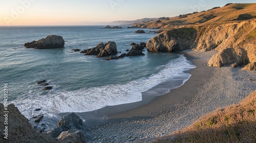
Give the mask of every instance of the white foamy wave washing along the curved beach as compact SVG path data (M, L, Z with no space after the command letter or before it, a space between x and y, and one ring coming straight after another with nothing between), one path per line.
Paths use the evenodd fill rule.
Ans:
M19 110L31 118L34 109L41 108L38 114L55 116L61 112L87 112L105 106L133 103L142 100L142 92L150 90L160 83L171 79L189 79L185 70L195 68L183 55L163 65L158 73L149 77L131 81L125 84L111 84L101 87L82 88L74 91L53 90L45 95L32 94L26 98L12 101Z

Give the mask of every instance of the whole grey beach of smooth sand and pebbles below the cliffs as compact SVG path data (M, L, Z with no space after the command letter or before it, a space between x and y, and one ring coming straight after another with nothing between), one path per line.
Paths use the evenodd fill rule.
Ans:
M183 51L181 54L197 66L191 69L190 79L150 103L145 100L87 114L97 123L86 122L93 138L90 142L148 142L181 130L208 112L239 103L255 90L255 72L206 66L215 53ZM122 111L125 107L130 108L112 114L113 109Z

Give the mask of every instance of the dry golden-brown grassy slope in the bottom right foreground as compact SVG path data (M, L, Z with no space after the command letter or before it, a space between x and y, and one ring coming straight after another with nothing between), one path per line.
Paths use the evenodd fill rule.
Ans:
M201 117L158 142L256 142L256 91L240 104Z

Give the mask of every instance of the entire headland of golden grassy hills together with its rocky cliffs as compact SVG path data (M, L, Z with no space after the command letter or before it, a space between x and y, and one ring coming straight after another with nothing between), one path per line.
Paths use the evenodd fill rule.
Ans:
M229 4L223 8L180 15L179 20L171 17L165 23L144 23L143 28L161 25L161 30L165 30L147 42L147 49L150 52L216 50L219 53L209 60L208 66L248 64L245 70L256 70L255 9L256 4Z

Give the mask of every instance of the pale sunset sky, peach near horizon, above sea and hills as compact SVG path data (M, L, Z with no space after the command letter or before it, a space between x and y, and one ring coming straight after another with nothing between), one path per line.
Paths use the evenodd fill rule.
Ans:
M0 26L104 25L117 20L173 17L256 0L0 0Z

